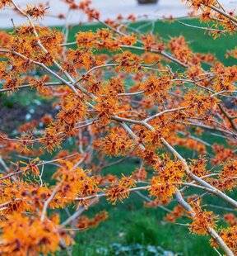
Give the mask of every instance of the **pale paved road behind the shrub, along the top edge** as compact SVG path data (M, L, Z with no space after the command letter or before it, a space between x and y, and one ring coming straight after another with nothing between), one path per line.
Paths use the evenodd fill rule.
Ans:
M49 2L49 15L59 13L67 13L67 5L61 0L16 0L17 4L21 7L25 7L27 3L37 4L40 2ZM149 16L151 18L157 17L184 17L188 13L188 8L181 0L160 0L157 4L150 5L138 5L136 0L92 0L93 6L100 11L101 18L103 20L107 18L117 17L118 14L122 14L123 17L128 17L133 13L138 17ZM237 10L237 0L221 0L225 7L230 10ZM24 17L19 17L9 7L5 7L0 10L0 27L11 27L12 21L16 25L26 22ZM81 12L70 12L68 21L70 24L77 24L80 21L86 21L86 17ZM65 21L58 20L55 17L44 17L39 21L44 25L62 25Z

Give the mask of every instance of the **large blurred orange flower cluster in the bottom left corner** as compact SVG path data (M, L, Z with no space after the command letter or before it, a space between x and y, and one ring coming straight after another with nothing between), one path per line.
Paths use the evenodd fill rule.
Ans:
M58 223L48 219L42 222L39 218L19 213L9 216L1 227L0 249L5 255L53 254L63 238Z

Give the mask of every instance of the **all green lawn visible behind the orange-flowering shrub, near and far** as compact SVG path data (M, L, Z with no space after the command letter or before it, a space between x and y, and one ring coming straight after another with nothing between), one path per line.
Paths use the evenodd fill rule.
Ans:
M184 22L195 26L203 26L203 24L200 24L197 20L184 20ZM213 40L210 36L205 34L205 31L181 25L178 21L172 23L157 21L154 26L152 26L150 21L141 21L130 26L132 29L141 29L141 26L143 26L141 29L143 32L150 31L152 28L155 34L165 40L169 40L170 36L183 35L190 43L193 50L201 53L211 52L226 65L236 64L235 59L225 59L225 53L226 50L235 47L237 36L221 36ZM100 27L102 26L98 24L73 26L68 41L75 40L74 35L77 31L95 31ZM19 102L19 98L23 95L24 92L17 92L15 95L8 97L8 99L6 97L0 98L0 101L3 102L2 104L5 107L11 102L11 106L8 106L10 111L14 108L15 104L20 104L29 110L31 100L35 100L34 94L32 95L32 93L30 93L28 97L23 97L24 100ZM35 108L37 109L36 105L37 104L35 104ZM183 150L182 153L184 156L185 154L188 156L187 151ZM105 172L110 171L110 173L114 174L128 174L136 167L137 164L135 162L125 162L106 169ZM215 204L215 200L211 201L211 203ZM172 208L171 206L169 207L170 209ZM100 204L91 207L91 209L86 212L86 215L93 216L96 212L102 210L109 212L109 220L101 223L95 229L78 232L76 244L72 249L72 255L115 255L116 249L114 248L117 248L117 252L118 248L121 249L119 255L135 255L135 251L130 253L126 251L126 248L128 249L126 246L132 248L132 244L140 244L145 248L143 249L144 254L139 254L137 250L137 255L156 255L149 252L147 245L153 245L155 247L160 246L165 250L187 256L216 255L216 251L209 246L208 237L189 234L188 227L185 225L165 223L163 220L165 211L144 207L142 199L135 193L132 194L128 200L125 200L123 203L118 203L116 206L101 200ZM180 220L181 223L185 221L187 220ZM62 251L59 254L63 255L66 254L66 252Z

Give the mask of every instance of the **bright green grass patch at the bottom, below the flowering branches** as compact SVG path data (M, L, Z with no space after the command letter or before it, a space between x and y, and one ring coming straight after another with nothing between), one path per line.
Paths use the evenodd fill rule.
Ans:
M95 229L77 234L73 255L91 255L96 249L109 248L109 244L152 244L184 255L216 255L207 237L191 235L186 226L163 222L159 209L144 208L141 199L132 195L117 206L102 202L91 209L109 211L109 220ZM91 213L91 212L89 212Z

